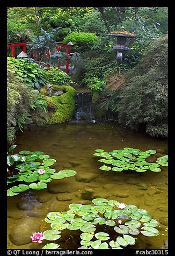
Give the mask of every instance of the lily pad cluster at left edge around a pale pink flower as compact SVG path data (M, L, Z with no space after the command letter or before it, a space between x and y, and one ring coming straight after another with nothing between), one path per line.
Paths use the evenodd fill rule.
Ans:
M52 179L63 179L76 174L75 170L70 169L56 172L55 169L50 168L56 160L41 151L24 150L19 154L12 154L15 147L16 145L13 145L9 148L11 154L7 156L8 187L11 183L16 183L16 186L7 190L8 196L18 195L30 188L44 189Z

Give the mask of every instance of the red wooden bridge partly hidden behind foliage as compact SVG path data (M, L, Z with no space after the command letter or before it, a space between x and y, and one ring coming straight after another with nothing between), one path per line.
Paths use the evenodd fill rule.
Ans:
M8 44L7 47L11 48L11 56L13 58L15 58L15 48L18 46L22 46L23 47L23 52L26 53L26 45L28 44L33 44L32 42L13 42L12 44ZM68 44L63 44L62 42L53 42L53 44L57 45L56 51L60 52L61 51L61 47L65 48L65 52L67 54L69 54L69 49L72 48L74 45L71 44L71 42L69 42ZM50 53L47 52L46 55L48 56L48 58L50 58ZM37 50L34 51L34 59L37 58ZM50 67L50 65L47 65L48 68ZM59 63L57 63L57 67L60 68ZM65 62L65 72L68 74L69 73L69 61L67 60Z

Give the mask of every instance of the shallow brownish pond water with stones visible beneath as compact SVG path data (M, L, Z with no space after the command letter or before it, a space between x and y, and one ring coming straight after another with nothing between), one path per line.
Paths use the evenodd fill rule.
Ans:
M43 244L31 243L30 236L50 229L44 221L48 212L67 211L70 203L90 204L90 200L99 197L137 205L159 222L159 236L141 234L132 248L167 248L167 167L162 166L159 173L105 172L93 156L97 148L112 151L133 147L141 151L154 149L156 157L160 157L167 154L167 140L123 129L116 123L67 122L18 132L16 145L14 153L42 151L56 159L52 166L56 171L73 169L77 175L53 180L47 183L47 189L8 197L9 249L42 248ZM69 232L63 232L67 241L61 240L60 248L77 248Z

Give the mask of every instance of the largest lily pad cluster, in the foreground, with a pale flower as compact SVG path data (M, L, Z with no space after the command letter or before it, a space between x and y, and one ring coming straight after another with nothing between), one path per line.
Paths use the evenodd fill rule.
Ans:
M43 232L43 237L53 241L61 237L64 229L77 230L83 248L122 249L135 244L136 238L133 236L143 234L154 237L159 234L155 229L158 222L146 210L105 198L95 198L92 203L72 203L68 211L49 212L45 221L50 223L52 230ZM124 206L121 208L120 205ZM52 243L43 248L56 246L56 243Z

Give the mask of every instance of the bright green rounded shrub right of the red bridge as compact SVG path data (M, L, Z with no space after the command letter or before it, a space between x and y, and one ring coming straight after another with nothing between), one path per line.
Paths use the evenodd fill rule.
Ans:
M97 40L97 35L94 33L71 32L68 34L63 42L67 44L69 41L74 45L74 49L78 51L88 51Z

